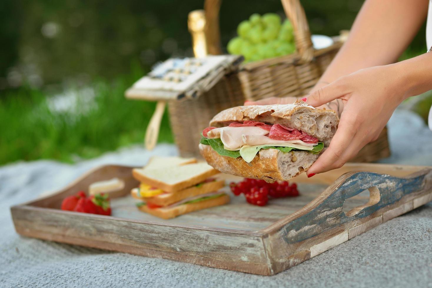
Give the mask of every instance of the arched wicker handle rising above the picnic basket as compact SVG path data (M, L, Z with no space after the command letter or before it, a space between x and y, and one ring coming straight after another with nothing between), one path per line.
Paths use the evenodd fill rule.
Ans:
M314 56L314 48L311 41L308 20L305 9L300 0L281 0L287 18L292 23L295 46L303 63L311 62ZM219 9L222 0L205 0L204 10L206 15L206 43L209 54L222 54L219 31Z

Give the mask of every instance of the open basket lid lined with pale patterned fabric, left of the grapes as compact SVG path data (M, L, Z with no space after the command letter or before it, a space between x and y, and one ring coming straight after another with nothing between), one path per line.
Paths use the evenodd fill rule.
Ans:
M125 94L130 99L155 101L197 98L242 61L238 55L171 58L153 67Z

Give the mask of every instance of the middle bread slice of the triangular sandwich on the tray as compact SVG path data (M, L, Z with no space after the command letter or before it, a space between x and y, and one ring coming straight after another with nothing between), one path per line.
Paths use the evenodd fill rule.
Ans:
M136 199L142 199L145 200L147 203L152 203L158 206L165 207L189 197L194 197L197 195L207 194L213 191L218 191L223 186L225 186L224 181L214 181L214 182L203 183L200 187L192 186L191 188L186 188L184 190L175 193L164 193L153 197L139 197L136 193L137 191L133 189L131 191L131 194L132 197Z

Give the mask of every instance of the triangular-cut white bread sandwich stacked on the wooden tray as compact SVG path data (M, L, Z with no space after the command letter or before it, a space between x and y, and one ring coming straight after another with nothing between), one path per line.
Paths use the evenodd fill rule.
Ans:
M133 177L141 182L131 191L132 197L143 200L138 208L155 216L169 219L208 207L229 202L229 196L217 191L224 186L210 176L219 173L206 163L154 165L153 160L143 169L133 169ZM220 198L220 199L219 199Z

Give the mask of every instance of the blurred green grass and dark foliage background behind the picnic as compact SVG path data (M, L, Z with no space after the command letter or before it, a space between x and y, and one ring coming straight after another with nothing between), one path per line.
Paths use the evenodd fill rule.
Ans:
M349 29L362 0L302 1L312 33ZM187 14L202 0L0 1L0 165L73 162L140 143L154 103L124 91L170 56L192 56ZM222 44L280 1L225 1ZM402 56L424 53L425 28ZM420 113L425 113L420 111ZM166 114L166 113L165 113ZM172 141L165 115L160 141Z

